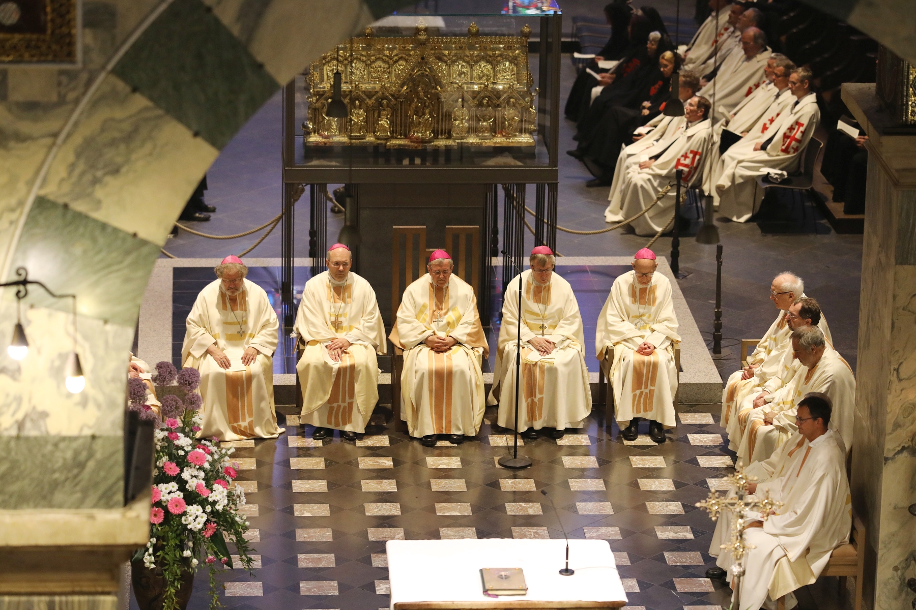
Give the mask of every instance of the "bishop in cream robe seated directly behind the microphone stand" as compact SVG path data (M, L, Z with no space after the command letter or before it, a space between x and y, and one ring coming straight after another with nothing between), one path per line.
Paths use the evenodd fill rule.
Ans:
M499 405L498 424L504 428L515 429L518 404L522 436L536 439L539 430L550 428L552 438L562 438L568 428L581 428L592 411L582 316L573 287L553 273L550 248L532 250L529 264L506 287L489 403Z

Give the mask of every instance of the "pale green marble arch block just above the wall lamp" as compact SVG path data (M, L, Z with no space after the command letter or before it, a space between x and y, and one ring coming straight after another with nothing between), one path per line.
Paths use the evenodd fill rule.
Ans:
M47 198L29 210L10 265L58 294L76 294L82 316L133 327L158 246ZM32 289L29 303L71 311L69 299Z

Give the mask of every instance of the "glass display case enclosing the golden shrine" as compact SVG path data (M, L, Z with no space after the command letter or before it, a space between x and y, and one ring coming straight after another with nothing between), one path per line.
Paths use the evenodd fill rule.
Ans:
M290 83L285 181L556 181L556 0L442 5L483 10L385 17Z

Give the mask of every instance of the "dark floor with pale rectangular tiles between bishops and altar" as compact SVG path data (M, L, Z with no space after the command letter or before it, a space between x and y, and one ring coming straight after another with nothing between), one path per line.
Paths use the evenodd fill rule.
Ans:
M384 409L356 443L312 441L290 414L278 439L234 444L257 567L226 571L224 604L385 607L386 540L562 538L546 489L571 538L609 541L630 606L727 607L730 590L704 576L713 522L693 506L731 472L718 412L683 406L656 445L625 443L596 410L560 443L526 441L534 465L521 471L496 465L512 437L486 423L491 412L474 440L430 448L387 427ZM205 574L197 580L191 607L205 607Z

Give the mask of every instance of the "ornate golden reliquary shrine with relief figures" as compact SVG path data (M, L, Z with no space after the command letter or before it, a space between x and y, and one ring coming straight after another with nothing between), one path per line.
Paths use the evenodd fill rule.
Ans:
M537 89L528 64L528 37L363 37L338 45L311 64L306 146L387 148L533 146ZM347 116L327 115L334 72L342 76Z

